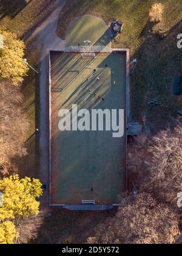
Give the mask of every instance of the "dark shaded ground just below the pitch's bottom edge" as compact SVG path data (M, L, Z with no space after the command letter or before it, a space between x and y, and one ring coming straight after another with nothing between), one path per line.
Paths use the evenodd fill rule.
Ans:
M115 216L116 208L107 212L76 212L55 209L50 218L44 219L35 244L77 244L86 243L95 235L95 228L104 219Z

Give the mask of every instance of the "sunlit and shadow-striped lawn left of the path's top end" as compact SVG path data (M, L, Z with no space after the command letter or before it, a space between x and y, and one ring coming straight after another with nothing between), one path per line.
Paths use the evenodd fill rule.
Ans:
M27 40L57 2L58 0L0 0L0 26L7 27Z

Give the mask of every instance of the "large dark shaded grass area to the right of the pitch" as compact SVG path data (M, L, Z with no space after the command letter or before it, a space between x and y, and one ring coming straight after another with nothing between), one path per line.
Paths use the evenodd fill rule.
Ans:
M140 35L144 41L135 53L138 64L131 77L133 116L140 122L146 118L154 133L169 127L171 120L177 117L178 105L172 94L172 81L182 68L182 51L177 48L182 21L172 27L163 39L156 32L155 25L157 23L148 21ZM149 106L152 98L157 98L161 104Z

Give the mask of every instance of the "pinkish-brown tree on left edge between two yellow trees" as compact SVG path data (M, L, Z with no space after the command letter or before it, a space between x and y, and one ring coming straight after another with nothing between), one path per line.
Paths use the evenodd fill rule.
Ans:
M27 155L24 146L29 131L29 120L22 111L23 96L19 87L7 82L0 83L0 174L8 175L11 159ZM13 168L15 169L15 168ZM15 170L16 171L16 170Z

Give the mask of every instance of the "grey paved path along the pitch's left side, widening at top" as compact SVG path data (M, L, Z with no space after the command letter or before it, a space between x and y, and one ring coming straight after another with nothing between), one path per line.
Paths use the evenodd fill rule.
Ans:
M66 0L60 0L55 10L33 32L35 47L41 49L40 87L40 127L39 127L39 152L40 152L40 177L41 182L47 185L47 191L42 199L42 207L49 206L49 50L60 51L65 48L65 40L56 34L59 15Z

